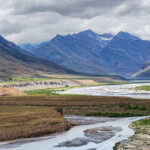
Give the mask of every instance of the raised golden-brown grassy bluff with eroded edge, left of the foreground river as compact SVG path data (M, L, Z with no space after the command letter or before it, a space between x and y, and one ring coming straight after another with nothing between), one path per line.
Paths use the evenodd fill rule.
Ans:
M53 107L0 106L0 141L65 131L66 120Z

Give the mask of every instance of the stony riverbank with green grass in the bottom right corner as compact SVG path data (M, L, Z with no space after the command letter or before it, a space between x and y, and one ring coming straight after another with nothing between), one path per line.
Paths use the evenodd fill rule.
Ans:
M135 130L135 135L127 143L116 145L117 150L149 150L150 149L150 118L134 122L130 125Z

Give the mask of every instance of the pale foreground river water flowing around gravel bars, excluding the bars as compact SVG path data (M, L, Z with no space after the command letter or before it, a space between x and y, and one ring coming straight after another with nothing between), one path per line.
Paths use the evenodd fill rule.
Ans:
M37 138L32 140L22 140L11 143L5 143L0 150L112 150L115 143L127 140L128 137L134 134L134 131L128 126L134 121L145 117L128 117L128 118L101 118L101 117L82 117L82 120L96 120L100 123L80 125L76 126L69 131L52 135L43 138ZM80 116L68 116L68 120L76 119L80 120ZM109 128L114 133L112 137L106 137L99 142L90 141L89 137L84 134L87 129L94 128ZM101 130L101 128L99 129ZM99 131L101 132L101 131ZM110 131L109 131L110 132ZM98 136L98 135L97 135ZM83 145L77 145L77 139L79 141L87 141ZM65 146L65 142L75 141L76 145ZM61 145L58 147L58 145Z

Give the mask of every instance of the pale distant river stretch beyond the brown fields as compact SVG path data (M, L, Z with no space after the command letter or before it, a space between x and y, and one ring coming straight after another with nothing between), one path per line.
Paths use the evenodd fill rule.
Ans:
M105 85L95 87L73 88L59 94L79 94L93 96L126 96L132 98L149 99L149 91L136 91L136 86L150 85L150 83L131 83L122 85Z

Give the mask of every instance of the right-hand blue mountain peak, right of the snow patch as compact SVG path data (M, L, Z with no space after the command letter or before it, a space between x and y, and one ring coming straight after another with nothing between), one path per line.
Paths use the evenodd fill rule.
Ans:
M101 50L100 61L110 72L131 76L150 60L150 41L119 32Z

